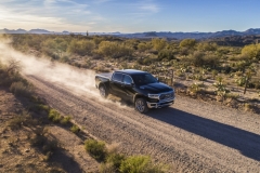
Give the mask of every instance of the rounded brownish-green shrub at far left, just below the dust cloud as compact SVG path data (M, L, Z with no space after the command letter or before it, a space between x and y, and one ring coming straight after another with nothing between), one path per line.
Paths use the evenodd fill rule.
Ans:
M32 94L32 89L23 82L13 82L10 91L14 93L14 95L30 96Z

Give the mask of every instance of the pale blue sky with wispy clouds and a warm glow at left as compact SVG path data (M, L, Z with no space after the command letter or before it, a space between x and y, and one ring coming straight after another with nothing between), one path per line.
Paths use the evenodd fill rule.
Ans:
M244 31L260 28L260 0L0 0L0 29Z

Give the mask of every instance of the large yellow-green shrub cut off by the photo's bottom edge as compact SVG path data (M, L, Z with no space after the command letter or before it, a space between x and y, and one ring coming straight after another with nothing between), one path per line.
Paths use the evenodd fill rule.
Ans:
M119 170L123 173L165 173L167 167L155 164L148 156L132 156L122 161Z

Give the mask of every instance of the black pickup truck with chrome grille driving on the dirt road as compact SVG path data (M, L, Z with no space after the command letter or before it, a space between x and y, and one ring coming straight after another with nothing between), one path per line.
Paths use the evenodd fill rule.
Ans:
M106 98L108 94L113 94L131 101L140 112L174 103L174 90L146 71L125 69L113 74L100 74L95 76L95 86L102 97Z

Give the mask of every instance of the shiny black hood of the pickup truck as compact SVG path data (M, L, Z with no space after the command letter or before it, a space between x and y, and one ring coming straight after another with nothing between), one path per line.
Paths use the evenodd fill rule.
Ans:
M140 89L145 90L147 93L151 93L151 94L172 91L172 89L169 85L161 82L140 85Z

